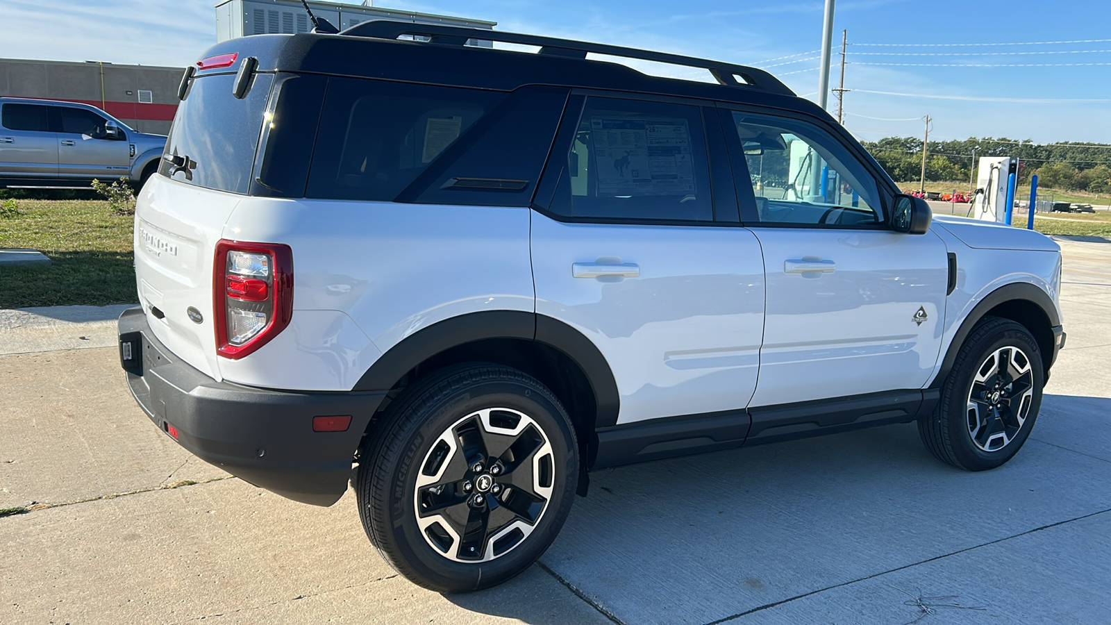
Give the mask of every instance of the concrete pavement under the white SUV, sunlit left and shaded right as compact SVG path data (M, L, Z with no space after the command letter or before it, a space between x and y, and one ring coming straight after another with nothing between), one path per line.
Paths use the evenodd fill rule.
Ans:
M542 565L469 595L397 576L351 493L296 504L158 431L113 311L0 311L0 508L36 503L0 517L0 623L1108 622L1111 245L1062 247L1068 344L1004 467L898 425L601 472Z

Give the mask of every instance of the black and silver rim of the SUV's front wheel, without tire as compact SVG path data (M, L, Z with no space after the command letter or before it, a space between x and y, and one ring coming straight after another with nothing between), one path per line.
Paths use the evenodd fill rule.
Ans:
M1033 369L1018 347L1001 347L980 365L967 403L972 442L983 452L998 452L1025 421L1033 395Z

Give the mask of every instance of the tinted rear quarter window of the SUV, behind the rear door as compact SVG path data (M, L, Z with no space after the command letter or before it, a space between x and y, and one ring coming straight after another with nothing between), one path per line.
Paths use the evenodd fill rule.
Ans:
M392 201L503 97L331 78L306 195Z

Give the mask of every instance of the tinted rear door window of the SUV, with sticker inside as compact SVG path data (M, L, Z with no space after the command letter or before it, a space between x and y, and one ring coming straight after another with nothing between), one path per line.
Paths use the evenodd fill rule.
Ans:
M552 210L569 217L710 221L697 107L588 98Z

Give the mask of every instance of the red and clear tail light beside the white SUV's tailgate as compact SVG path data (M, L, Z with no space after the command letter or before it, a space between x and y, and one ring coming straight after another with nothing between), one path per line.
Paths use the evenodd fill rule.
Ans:
M293 251L280 244L216 245L212 264L217 354L242 358L293 317Z

